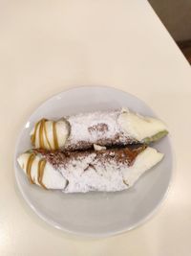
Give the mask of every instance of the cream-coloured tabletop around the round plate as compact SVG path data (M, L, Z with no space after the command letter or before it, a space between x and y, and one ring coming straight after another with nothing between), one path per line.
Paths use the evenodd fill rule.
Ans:
M1 1L0 255L190 255L191 69L145 0ZM69 236L21 197L12 157L20 129L47 98L76 85L111 85L166 121L176 154L158 213L107 239Z

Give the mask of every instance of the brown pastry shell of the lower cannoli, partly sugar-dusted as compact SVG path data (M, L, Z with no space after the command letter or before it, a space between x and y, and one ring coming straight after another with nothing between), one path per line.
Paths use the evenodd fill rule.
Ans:
M128 188L123 174L144 146L103 151L39 151L68 180L65 193L120 191Z

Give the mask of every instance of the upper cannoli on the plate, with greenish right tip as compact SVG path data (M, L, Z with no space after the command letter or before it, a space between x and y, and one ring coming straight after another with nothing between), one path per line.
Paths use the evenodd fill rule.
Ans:
M167 134L156 118L143 117L127 108L96 111L62 117L57 121L41 119L31 132L34 148L76 151L93 148L150 143Z

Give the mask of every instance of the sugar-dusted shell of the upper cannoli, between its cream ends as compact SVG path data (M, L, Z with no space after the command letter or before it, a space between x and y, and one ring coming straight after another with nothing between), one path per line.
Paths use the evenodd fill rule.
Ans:
M135 142L117 122L120 110L80 113L67 118L71 134L65 149L85 149L94 144L110 146Z

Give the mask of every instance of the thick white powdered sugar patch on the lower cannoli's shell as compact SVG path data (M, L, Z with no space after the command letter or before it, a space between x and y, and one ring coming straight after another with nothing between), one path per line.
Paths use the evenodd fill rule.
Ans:
M75 159L67 168L59 172L69 181L65 193L86 193L89 191L121 191L128 188L123 181L123 172L128 169L125 164L107 161L104 164L90 154L83 161Z

